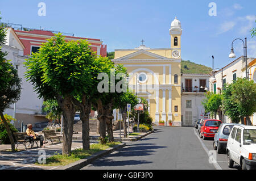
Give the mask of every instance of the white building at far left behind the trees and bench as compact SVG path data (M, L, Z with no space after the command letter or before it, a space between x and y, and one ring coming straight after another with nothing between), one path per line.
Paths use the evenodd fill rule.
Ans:
M11 64L18 68L18 75L22 78L22 91L20 99L16 102L15 106L15 119L17 121L14 122L14 126L16 128L20 128L21 121L24 124L47 121L45 115L42 115L43 99L38 98L31 83L27 82L24 77L26 69L23 62L27 57L23 56L23 50L24 45L16 33L12 28L7 28L6 43L2 46L2 51L8 52L6 59L11 60ZM3 113L14 117L14 104Z

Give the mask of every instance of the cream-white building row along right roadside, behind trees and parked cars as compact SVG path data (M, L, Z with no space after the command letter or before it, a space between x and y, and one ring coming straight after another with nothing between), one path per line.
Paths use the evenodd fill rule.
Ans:
M224 66L220 70L214 73L214 76L210 76L210 91L216 92L217 94L221 94L222 86L225 83L232 83L233 80L236 80L238 77L245 78L246 77L246 68L245 68L245 60L243 56L237 58L236 60L230 62L230 64ZM247 58L247 65L249 71L249 78L254 79L256 82L256 74L255 74L255 59ZM214 80L213 77L216 79ZM217 115L218 119L218 115ZM224 115L224 123L230 123L231 120L228 116ZM256 125L256 114L251 116L251 123Z

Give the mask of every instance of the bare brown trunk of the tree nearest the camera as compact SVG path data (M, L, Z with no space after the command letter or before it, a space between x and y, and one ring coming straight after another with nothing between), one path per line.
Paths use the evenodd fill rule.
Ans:
M62 154L70 154L73 138L73 125L76 113L75 105L72 102L72 96L61 98L57 96L57 102L63 110L63 148Z

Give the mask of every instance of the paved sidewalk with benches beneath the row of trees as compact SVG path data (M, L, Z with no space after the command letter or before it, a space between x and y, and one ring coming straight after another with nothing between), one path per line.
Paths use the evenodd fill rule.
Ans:
M130 132L131 133L131 132ZM130 136L130 138L123 138L123 130L121 130L121 139L122 141L137 141L138 139L146 136L147 134L150 134L152 132L147 133L141 133L139 136ZM114 140L119 141L119 131L114 131ZM90 144L98 143L98 137L100 135L97 133L91 133L90 134ZM15 144L16 146L16 144ZM62 146L63 143L59 141L54 141L53 144L51 144L51 141L48 141L47 144L44 144L46 146L45 148L37 148L34 145L34 148L28 148L25 150L24 145L18 146L18 152L11 153L10 150L11 145L0 145L0 170L19 170L19 169L28 169L28 170L52 170L52 169L58 169L59 166L55 167L46 167L46 166L37 166L34 165L34 163L38 160L40 155L42 155L43 151L46 153L46 157L51 157L51 155L55 153L62 153ZM73 141L72 141L72 150L73 149L79 149L82 148L82 133L79 132L78 134L73 134ZM101 153L101 155L108 154L109 151L112 150L106 150ZM92 156L91 156L92 157ZM99 157L99 155L93 156L95 158L90 159L96 159Z

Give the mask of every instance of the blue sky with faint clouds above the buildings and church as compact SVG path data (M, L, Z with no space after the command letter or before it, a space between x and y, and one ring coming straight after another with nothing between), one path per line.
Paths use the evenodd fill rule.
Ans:
M38 15L38 3L46 3L46 16ZM210 2L217 5L217 16L209 16ZM150 48L170 48L171 22L181 22L181 58L197 64L222 68L232 40L247 37L248 56L256 57L256 1L66 1L0 0L2 22L23 27L75 33L75 36L101 39L114 49L129 49L144 44ZM242 41L235 41L237 57L243 53Z

